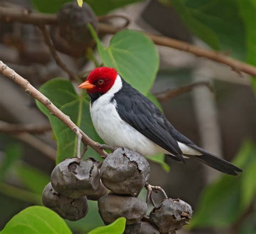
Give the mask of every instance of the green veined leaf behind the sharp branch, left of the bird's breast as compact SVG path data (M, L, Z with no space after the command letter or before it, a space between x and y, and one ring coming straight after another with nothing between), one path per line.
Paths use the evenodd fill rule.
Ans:
M89 97L84 93L79 96L69 80L61 78L52 79L43 84L41 88L39 88L39 91L49 98L62 112L70 116L70 119L93 140L102 142L91 122ZM52 130L56 136L58 146L56 163L61 162L66 157L76 156L76 134L62 121L52 116L49 110L38 101L37 106L48 116ZM100 156L90 147L86 151L86 155L93 156L97 160L100 160Z

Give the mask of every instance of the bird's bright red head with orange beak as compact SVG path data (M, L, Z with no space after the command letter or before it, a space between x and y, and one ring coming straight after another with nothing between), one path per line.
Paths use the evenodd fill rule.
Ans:
M106 93L113 86L117 75L118 73L114 68L97 67L78 88L85 88L89 94Z

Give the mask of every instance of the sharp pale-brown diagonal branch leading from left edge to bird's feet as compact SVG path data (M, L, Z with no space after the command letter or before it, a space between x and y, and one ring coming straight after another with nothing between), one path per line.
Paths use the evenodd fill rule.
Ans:
M100 155L105 156L106 152L103 149L100 149L100 144L90 139L80 128L76 126L76 124L70 119L68 115L65 115L62 111L60 111L52 102L45 97L41 92L39 92L35 87L33 87L28 80L25 80L21 75L17 74L14 70L10 67L5 65L2 61L0 61L0 74L4 75L18 85L22 86L26 93L32 95L35 99L41 102L46 108L49 109L50 113L56 116L59 120L65 123L78 137L82 135L82 142L85 145L91 146L96 152ZM78 141L79 142L79 141ZM78 150L78 154L79 154Z

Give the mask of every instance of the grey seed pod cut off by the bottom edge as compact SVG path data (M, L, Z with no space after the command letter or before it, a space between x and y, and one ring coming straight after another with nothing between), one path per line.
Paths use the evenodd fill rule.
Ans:
M124 234L160 234L159 230L149 222L139 221L136 224L126 225Z

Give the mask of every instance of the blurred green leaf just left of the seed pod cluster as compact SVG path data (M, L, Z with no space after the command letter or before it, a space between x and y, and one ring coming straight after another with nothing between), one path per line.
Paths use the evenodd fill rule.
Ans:
M40 195L50 180L50 176L44 171L24 163L17 165L16 173L26 189Z

